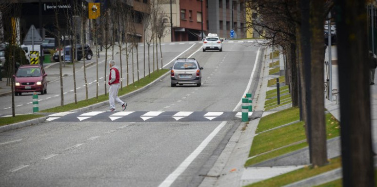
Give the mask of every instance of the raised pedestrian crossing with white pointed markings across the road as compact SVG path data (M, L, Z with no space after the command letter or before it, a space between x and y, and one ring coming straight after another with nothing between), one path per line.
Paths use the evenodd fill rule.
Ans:
M251 116L252 112L249 112ZM91 111L59 112L48 115L50 122L201 122L241 120L241 112L207 111Z

